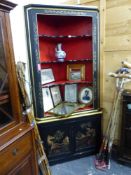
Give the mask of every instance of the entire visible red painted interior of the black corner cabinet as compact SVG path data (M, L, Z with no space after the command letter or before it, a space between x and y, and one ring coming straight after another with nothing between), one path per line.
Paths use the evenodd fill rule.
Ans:
M84 16L54 16L54 15L37 15L38 35L48 35L39 37L39 50L41 69L51 68L55 77L55 83L67 81L67 65L73 64L68 62L76 60L75 64L85 64L85 82L93 82L93 62L82 61L93 59L92 48L92 18ZM83 36L79 38L59 38L59 36ZM51 37L49 37L51 36ZM52 36L58 36L52 38ZM62 43L62 50L66 52L64 62L57 62L55 57L55 48L58 43ZM55 63L52 61L56 61ZM44 62L50 62L44 64ZM77 83L78 92L82 87L89 87L87 83ZM64 100L64 85L60 86L61 95ZM92 105L87 109L92 108Z

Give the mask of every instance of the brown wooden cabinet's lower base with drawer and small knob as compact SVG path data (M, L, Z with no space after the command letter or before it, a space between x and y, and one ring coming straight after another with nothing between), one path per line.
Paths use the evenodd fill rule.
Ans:
M0 137L1 175L37 174L33 128L19 124Z

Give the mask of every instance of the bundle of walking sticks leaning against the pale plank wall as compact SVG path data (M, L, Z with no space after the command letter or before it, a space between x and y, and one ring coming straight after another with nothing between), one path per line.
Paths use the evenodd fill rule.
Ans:
M109 124L106 130L106 135L103 138L101 148L99 153L96 156L95 160L95 166L98 169L105 169L110 168L110 155L111 155L111 149L113 144L113 139L115 135L115 129L116 129L116 121L117 121L117 112L118 112L118 106L119 101L121 97L121 93L123 91L123 87L125 82L127 82L127 79L131 78L131 75L127 74L128 70L125 68L121 68L116 73L110 73L109 75L116 78L116 97L114 99L114 105L112 108Z

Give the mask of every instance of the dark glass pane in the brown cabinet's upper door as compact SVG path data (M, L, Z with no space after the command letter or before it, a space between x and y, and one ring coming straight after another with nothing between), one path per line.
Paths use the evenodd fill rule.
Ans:
M2 28L0 24L0 128L12 120L8 72L3 47Z

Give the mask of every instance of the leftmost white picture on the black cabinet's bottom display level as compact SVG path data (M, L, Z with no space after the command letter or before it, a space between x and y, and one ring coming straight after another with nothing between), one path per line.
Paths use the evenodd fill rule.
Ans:
M43 93L44 112L47 112L54 107L53 101L51 98L50 89L49 88L42 88L42 93Z

